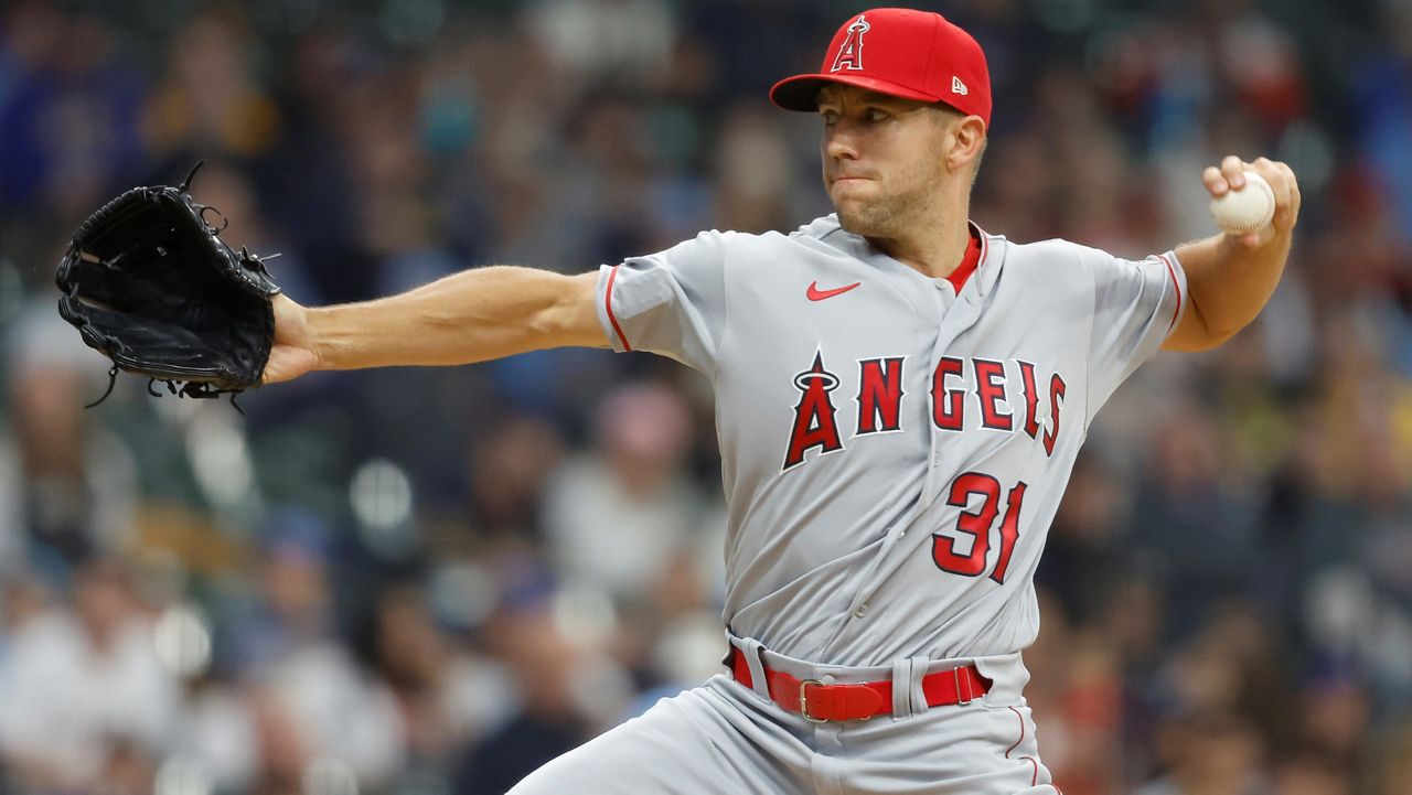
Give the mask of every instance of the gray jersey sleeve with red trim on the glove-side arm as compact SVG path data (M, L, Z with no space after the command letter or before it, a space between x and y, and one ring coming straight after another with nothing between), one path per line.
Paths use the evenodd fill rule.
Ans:
M613 350L648 350L712 373L726 328L730 233L599 268L597 311Z

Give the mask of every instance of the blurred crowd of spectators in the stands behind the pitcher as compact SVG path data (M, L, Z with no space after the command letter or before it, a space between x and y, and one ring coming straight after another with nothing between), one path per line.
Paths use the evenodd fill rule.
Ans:
M1303 189L1261 319L1139 370L1075 470L1027 652L1059 785L1412 791L1412 4L922 6L990 58L988 232L1163 251L1230 153ZM699 376L558 350L85 410L54 265L198 158L309 305L794 229L818 121L764 92L861 7L6 0L0 794L498 794L717 672Z

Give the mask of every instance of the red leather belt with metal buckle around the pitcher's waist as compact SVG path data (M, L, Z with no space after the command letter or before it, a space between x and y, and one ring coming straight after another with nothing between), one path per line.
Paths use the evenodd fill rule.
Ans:
M746 655L730 647L730 672L747 688L755 683L750 676ZM827 685L818 679L796 679L784 671L765 668L770 698L781 709L798 712L805 720L867 720L875 715L892 713L892 682L861 682L856 685ZM922 676L922 693L928 706L969 705L990 692L990 679L974 665L959 665Z

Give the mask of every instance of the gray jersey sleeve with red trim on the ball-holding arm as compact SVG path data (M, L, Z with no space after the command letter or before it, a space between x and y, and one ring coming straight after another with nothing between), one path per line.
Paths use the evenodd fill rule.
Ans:
M1152 359L1186 311L1186 273L1175 251L1121 260L1083 249L1093 275L1089 419L1139 364Z

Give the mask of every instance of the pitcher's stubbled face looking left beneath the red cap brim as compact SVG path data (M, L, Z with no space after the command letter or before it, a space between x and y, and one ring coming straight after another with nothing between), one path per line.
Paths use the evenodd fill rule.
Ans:
M922 102L853 86L819 92L823 185L843 229L898 237L935 217L953 117Z

